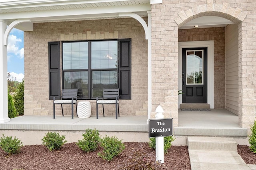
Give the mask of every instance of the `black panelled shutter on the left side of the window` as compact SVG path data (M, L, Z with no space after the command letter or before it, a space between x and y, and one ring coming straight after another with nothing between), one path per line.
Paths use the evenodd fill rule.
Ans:
M60 42L48 42L49 100L60 97Z

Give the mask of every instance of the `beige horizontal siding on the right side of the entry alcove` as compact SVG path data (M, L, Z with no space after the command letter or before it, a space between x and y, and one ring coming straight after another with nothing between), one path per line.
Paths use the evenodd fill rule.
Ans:
M238 115L238 26L226 27L226 109Z

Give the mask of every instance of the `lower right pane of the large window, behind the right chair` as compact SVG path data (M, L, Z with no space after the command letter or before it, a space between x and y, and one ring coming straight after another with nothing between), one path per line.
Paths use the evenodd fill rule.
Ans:
M92 71L92 97L101 96L104 88L118 88L116 70Z

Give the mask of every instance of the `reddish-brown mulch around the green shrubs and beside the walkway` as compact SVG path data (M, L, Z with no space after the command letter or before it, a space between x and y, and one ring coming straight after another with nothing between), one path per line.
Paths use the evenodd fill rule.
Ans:
M102 160L95 152L83 152L75 143L64 144L60 150L48 151L43 145L23 146L19 154L7 156L0 149L0 167L3 170L119 170L127 163L136 148L155 156L155 151L147 143L124 142L125 150L114 160ZM238 153L247 164L256 164L256 154L248 146L238 145ZM172 146L164 155L164 164L160 170L190 170L187 146Z

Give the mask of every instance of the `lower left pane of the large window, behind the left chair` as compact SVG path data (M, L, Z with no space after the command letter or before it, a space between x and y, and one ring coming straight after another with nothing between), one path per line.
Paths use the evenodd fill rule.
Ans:
M78 89L78 98L88 98L88 71L65 71L64 89Z

